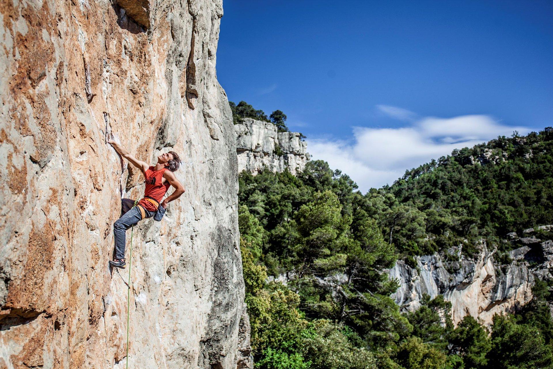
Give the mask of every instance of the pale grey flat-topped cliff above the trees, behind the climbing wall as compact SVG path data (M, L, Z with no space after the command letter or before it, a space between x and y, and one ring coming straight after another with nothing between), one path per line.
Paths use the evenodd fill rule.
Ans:
M263 168L279 172L288 169L296 174L309 161L301 133L278 132L274 124L252 118L243 118L234 125L234 131L239 171L257 174Z

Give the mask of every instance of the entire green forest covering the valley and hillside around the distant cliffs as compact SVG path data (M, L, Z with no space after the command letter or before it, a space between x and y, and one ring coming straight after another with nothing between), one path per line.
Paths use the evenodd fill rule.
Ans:
M421 254L453 262L453 247L469 257L481 241L510 262L506 252L518 246L507 233L553 224L552 152L553 128L515 132L366 194L320 160L297 176L242 172L238 222L256 367L553 368L550 281L538 280L529 304L489 328L471 316L454 327L441 296L401 313L390 298L397 281L384 273ZM286 283L267 282L274 279Z

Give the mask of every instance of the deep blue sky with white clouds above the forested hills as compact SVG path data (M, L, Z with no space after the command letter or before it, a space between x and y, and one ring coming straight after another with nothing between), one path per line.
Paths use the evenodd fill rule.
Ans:
M224 0L228 98L280 109L357 181L553 126L553 1Z

